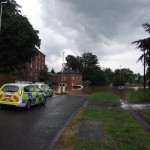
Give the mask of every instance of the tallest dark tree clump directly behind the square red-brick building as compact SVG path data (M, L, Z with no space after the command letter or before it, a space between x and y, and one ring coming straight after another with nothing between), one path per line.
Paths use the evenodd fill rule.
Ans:
M104 73L98 65L96 55L84 53L80 56L68 55L66 68L71 68L82 73L83 80L91 81L92 85L106 85Z

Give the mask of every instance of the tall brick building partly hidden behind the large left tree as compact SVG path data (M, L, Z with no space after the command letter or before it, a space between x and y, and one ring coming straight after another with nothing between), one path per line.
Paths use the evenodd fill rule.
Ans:
M45 55L38 50L38 54L29 64L27 63L27 72L33 81L38 81L39 73L44 69L45 66Z

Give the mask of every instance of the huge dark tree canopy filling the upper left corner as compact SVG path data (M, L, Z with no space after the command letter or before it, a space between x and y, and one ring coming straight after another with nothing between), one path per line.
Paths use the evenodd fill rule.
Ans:
M15 0L3 6L0 37L0 71L10 72L25 66L40 48L38 31L21 15Z

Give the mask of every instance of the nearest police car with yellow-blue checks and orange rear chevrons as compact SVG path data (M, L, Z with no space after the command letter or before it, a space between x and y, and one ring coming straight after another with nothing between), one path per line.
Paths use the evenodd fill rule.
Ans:
M11 83L0 88L0 105L14 105L30 109L32 105L45 105L45 93L35 84Z

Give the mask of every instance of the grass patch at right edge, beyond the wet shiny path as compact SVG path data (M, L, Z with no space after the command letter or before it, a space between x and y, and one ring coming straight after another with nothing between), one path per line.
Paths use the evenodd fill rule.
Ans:
M150 89L139 89L127 98L129 103L150 102Z

